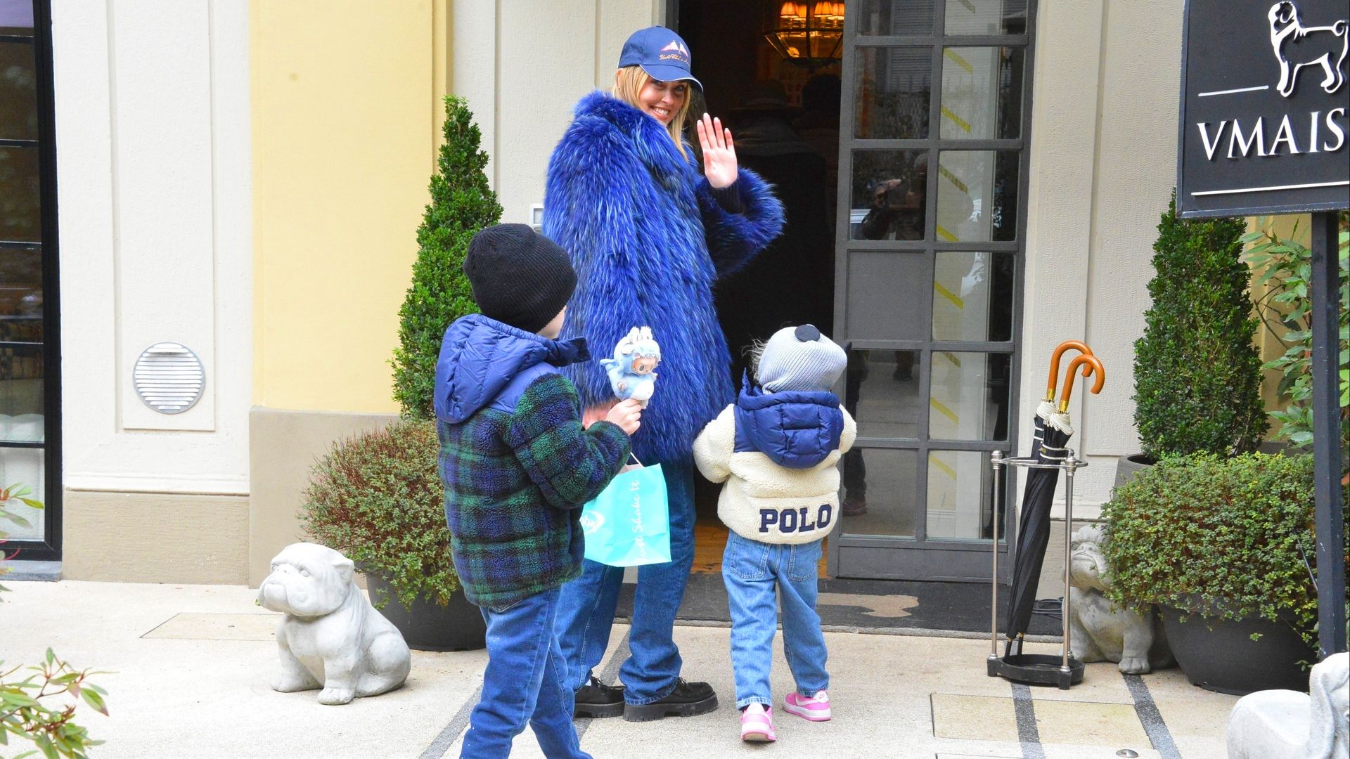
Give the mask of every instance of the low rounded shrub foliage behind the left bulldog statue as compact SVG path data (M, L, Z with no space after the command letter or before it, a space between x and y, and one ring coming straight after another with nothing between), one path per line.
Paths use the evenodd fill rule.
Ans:
M439 450L425 420L398 420L342 440L315 463L301 504L305 532L358 570L385 578L404 606L417 597L446 605L459 590Z

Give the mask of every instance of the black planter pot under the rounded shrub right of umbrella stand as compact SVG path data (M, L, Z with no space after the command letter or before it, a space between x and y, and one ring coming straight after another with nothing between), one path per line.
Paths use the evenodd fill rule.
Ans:
M1315 654L1284 620L1233 621L1193 614L1183 623L1185 612L1158 608L1168 646L1191 685L1233 696L1257 690L1308 691L1308 673L1299 662ZM1261 637L1251 640L1253 633Z

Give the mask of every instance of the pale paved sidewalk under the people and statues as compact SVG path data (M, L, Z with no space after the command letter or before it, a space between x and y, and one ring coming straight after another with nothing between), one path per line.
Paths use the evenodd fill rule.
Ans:
M0 604L0 658L35 663L47 646L78 667L112 670L111 717L81 710L108 743L92 759L458 756L486 652L413 652L401 690L346 706L315 691L274 693L278 614L243 586L14 582ZM605 673L613 678L626 628L617 625ZM829 632L836 717L778 714L779 741L738 740L728 631L679 627L684 673L707 679L711 714L630 724L578 721L597 759L717 759L751 754L818 758L1223 759L1237 701L1185 682L1177 670L1122 677L1088 664L1072 690L1011 685L984 674L988 640ZM1031 647L1029 647L1030 650ZM1040 644L1035 650L1057 651ZM791 687L779 650L775 693ZM14 751L11 744L9 750ZM526 731L513 756L541 756Z

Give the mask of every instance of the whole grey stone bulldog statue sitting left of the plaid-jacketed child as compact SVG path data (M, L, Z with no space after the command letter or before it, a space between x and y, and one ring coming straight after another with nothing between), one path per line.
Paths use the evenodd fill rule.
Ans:
M282 612L281 674L273 690L319 691L320 704L393 690L412 655L402 633L370 605L352 579L351 559L315 543L292 543L271 560L258 604Z

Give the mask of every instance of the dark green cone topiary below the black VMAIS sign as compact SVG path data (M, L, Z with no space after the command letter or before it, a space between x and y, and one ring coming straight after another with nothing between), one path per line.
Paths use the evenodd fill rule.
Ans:
M1266 431L1243 231L1241 219L1179 219L1176 193L1158 223L1153 305L1134 343L1134 423L1149 458L1250 452Z

